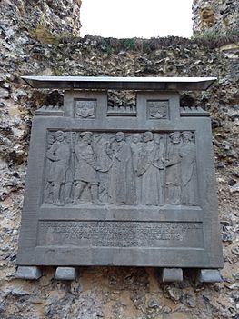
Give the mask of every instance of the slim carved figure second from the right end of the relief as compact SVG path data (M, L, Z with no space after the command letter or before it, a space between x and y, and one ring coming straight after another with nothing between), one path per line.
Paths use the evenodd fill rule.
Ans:
M166 202L169 204L181 203L181 134L174 132L169 135L166 156Z

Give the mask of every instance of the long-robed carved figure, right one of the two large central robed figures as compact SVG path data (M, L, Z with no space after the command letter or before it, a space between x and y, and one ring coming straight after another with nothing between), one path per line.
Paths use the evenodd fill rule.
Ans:
M159 145L154 141L152 132L143 135L144 145L138 165L138 176L142 176L142 204L163 204L164 181L160 170L164 169L164 162L160 156Z

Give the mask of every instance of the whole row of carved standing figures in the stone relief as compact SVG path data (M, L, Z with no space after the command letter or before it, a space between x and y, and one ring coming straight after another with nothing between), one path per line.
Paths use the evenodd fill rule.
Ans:
M51 132L44 200L55 205L195 205L194 133Z

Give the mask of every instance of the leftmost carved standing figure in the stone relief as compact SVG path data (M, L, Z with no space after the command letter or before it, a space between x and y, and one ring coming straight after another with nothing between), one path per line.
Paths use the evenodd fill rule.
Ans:
M70 147L65 140L65 133L57 131L55 142L46 152L46 157L52 161L47 174L47 182L52 184L53 204L64 205L61 201L63 186L68 180L67 169L70 160Z

